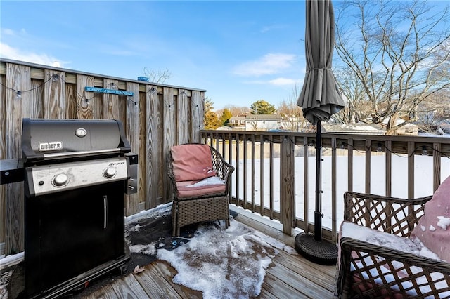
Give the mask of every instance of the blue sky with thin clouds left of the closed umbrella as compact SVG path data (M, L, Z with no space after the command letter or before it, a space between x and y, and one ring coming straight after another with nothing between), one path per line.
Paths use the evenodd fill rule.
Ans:
M0 56L205 89L214 109L292 98L304 79L304 1L4 1Z

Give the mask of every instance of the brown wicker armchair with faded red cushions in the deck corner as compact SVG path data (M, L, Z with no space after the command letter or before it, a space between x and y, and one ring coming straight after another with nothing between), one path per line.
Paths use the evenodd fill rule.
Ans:
M172 235L197 222L225 220L229 227L229 194L234 167L214 147L175 145L167 154ZM209 181L209 182L207 182Z

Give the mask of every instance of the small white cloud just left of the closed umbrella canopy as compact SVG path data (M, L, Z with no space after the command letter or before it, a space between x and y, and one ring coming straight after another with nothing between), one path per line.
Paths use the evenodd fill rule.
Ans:
M277 74L283 69L288 69L295 62L295 55L283 53L269 53L258 60L244 62L233 69L239 76L262 76Z

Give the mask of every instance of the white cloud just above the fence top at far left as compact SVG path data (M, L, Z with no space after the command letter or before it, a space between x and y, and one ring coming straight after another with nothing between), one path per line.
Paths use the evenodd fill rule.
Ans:
M25 62L37 63L39 65L51 65L53 67L66 67L70 62L63 62L46 54L37 54L26 51L21 51L18 48L13 48L7 44L0 42L0 57L13 60L20 60Z

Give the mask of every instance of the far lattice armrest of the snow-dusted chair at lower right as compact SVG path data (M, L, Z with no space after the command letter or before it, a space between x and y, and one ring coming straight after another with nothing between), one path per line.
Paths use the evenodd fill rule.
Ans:
M409 237L432 196L400 199L374 194L345 192L344 220L373 230Z

